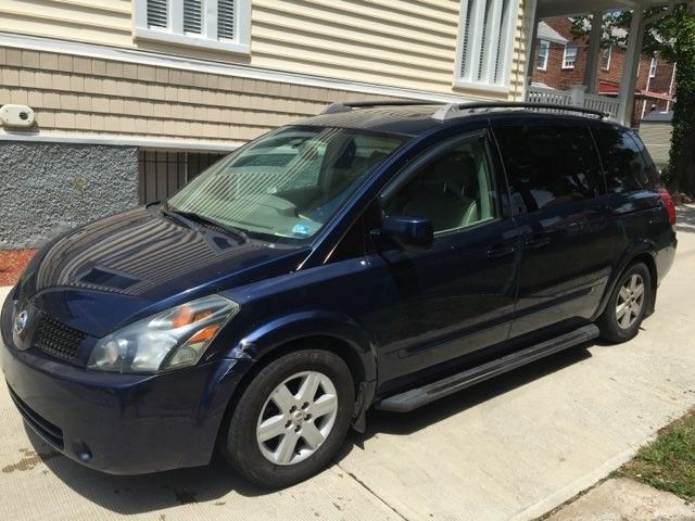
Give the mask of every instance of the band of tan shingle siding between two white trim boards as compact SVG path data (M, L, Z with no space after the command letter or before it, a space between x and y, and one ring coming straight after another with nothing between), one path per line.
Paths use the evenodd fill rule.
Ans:
M382 97L0 47L0 104L31 130L215 141L253 139L344 99Z

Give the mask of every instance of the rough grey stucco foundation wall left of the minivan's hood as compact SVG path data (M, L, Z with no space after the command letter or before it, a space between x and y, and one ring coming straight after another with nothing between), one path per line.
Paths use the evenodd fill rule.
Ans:
M138 149L0 141L0 250L138 204Z

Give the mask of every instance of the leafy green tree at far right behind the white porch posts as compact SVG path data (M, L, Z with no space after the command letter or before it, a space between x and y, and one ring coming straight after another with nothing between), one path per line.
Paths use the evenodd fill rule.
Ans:
M602 47L626 46L632 12L608 13L604 16ZM645 13L643 52L658 53L677 64L678 99L673 110L673 136L669 166L664 173L668 186L675 191L695 194L695 14L685 4L654 8ZM579 16L572 21L572 35L586 41L591 18Z

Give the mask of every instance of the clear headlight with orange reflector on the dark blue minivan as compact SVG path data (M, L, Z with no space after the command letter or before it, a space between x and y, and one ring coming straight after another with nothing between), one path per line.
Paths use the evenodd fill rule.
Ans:
M237 312L236 302L211 295L157 313L101 339L88 367L154 373L193 366Z

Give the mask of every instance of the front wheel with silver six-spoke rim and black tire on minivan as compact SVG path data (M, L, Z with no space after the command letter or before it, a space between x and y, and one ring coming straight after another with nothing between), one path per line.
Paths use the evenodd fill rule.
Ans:
M314 348L289 353L249 382L223 427L220 452L256 485L299 483L330 463L350 429L354 401L352 374L340 356Z

